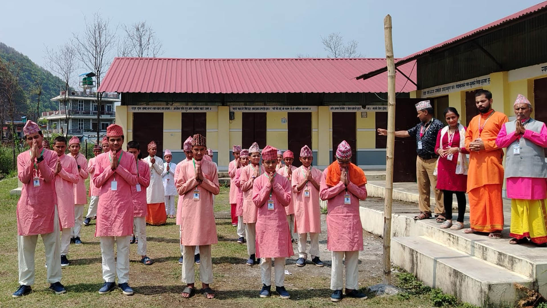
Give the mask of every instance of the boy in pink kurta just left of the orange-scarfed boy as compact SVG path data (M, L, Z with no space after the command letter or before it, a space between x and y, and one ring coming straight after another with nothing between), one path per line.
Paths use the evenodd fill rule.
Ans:
M313 264L322 267L319 260L319 233L321 233L321 207L319 206L319 182L321 170L311 167L312 151L305 145L300 149L302 166L294 170L292 191L294 202L295 232L298 233L298 260L296 266L306 265L307 233L310 233L310 254Z

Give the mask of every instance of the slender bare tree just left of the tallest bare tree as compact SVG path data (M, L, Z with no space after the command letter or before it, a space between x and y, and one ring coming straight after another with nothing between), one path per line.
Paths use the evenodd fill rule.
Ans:
M70 100L69 100L69 90L71 89L70 83L74 77L74 72L76 71L77 66L77 52L74 48L74 41L69 39L63 45L60 45L56 50L50 50L46 47L45 49L46 60L48 61L48 66L51 71L56 73L61 80L63 81L65 91L63 99L63 107L65 109L65 121L67 123L67 129L65 132L65 137L68 138L68 126L70 123L71 111L70 111ZM61 125L61 130L63 126Z

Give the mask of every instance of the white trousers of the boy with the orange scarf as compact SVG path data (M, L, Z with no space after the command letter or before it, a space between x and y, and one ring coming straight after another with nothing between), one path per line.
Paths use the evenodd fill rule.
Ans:
M359 251L332 252L333 263L330 270L330 289L341 290L344 288L344 275L342 274L342 259L346 256L346 289L357 290L359 288Z

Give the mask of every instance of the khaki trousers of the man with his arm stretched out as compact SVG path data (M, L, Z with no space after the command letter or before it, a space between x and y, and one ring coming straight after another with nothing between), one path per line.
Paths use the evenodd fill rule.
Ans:
M431 213L429 195L431 187L435 190L435 214L444 213L443 192L437 189L437 176L433 175L437 158L416 157L416 179L418 182L418 206L420 212Z

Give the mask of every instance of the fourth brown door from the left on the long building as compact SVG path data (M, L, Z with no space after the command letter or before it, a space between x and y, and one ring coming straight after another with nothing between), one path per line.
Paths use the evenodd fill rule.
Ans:
M311 149L311 112L288 112L287 128L289 150L294 153L293 166L300 167L300 149L304 145Z

